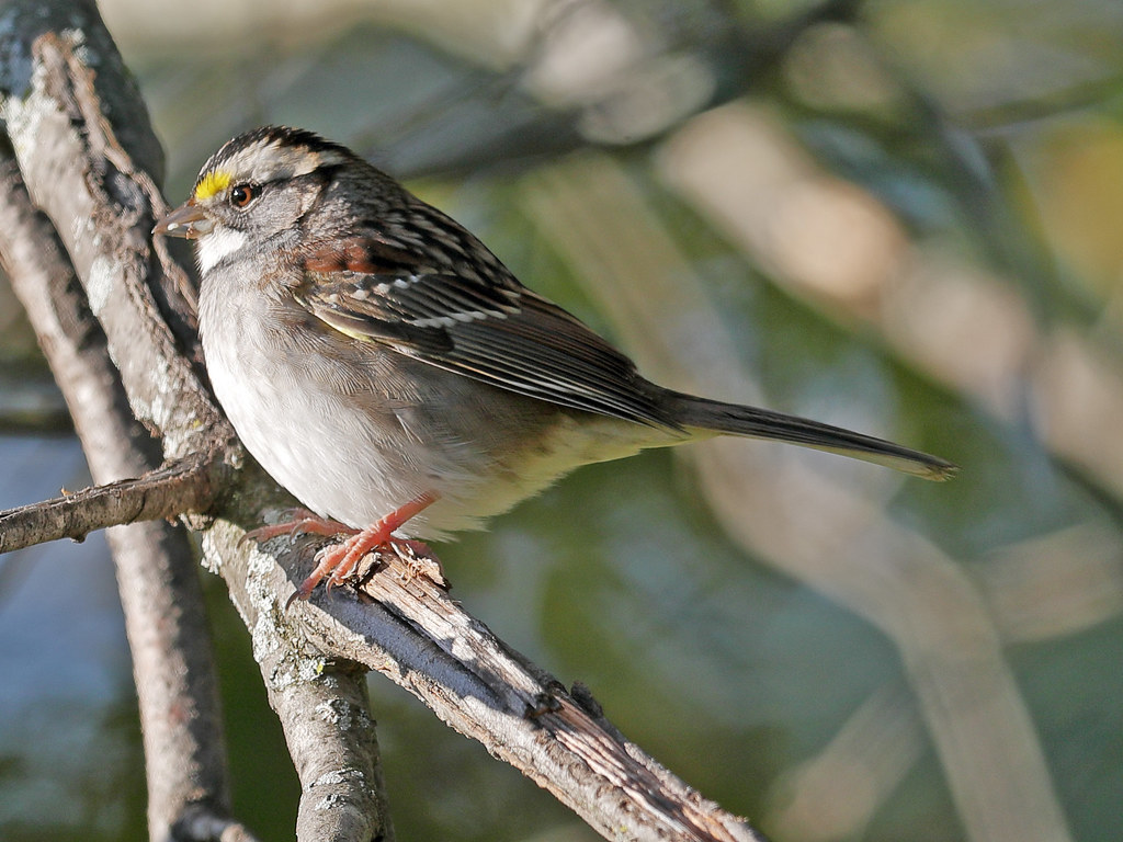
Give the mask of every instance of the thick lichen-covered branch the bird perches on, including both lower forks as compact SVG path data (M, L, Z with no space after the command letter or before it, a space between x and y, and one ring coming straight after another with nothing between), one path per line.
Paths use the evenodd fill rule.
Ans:
M586 693L566 693L400 559L384 559L363 598L339 588L284 611L311 544L277 540L266 551L240 540L238 524L262 522L280 493L244 459L181 351L194 344L165 321L190 320L179 306L182 273L148 240L153 210L165 205L145 173L155 156L143 107L89 3L52 3L54 17L40 6L12 2L0 20L11 24L0 27L4 37L24 39L3 45L9 57L26 58L0 63L0 116L29 193L73 259L133 412L161 437L165 459L214 454L207 458L220 519L193 525L204 562L226 578L250 629L296 761L299 838L392 838L365 714L363 669L376 669L609 839L758 840L624 740ZM90 54L97 75L83 62ZM133 134L118 138L115 125ZM74 406L81 414L81 402Z

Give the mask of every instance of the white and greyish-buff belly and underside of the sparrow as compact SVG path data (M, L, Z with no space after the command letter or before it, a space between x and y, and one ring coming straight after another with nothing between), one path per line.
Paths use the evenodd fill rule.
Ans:
M380 391L393 377L377 376L376 346L369 348L373 370L363 370L367 387L356 387L357 377L332 383L339 366L321 355L294 357L292 348L277 347L283 339L227 304L221 319L201 308L207 369L222 409L274 479L318 514L355 528L436 493L437 502L403 533L440 538L478 529L579 465L673 440L506 392L489 396L459 375L401 357L395 365L419 367L414 375L438 397L424 405L423 390L404 387L386 397ZM482 412L491 414L481 419Z

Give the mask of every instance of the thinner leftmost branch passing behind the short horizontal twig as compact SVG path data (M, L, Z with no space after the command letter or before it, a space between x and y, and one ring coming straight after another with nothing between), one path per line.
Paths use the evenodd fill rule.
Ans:
M72 409L94 479L110 482L158 463L150 437L133 419L116 382L104 336L77 292L58 238L31 205L15 162L4 155L0 155L0 263ZM64 522L88 523L86 514L72 516L76 510L67 506L54 514ZM20 531L0 516L0 548L13 549L12 529ZM252 840L228 817L218 683L186 536L182 529L154 522L111 529L107 538L133 651L149 835L165 840L173 826L182 825L177 839L213 839L217 834L194 832L222 829L230 842Z

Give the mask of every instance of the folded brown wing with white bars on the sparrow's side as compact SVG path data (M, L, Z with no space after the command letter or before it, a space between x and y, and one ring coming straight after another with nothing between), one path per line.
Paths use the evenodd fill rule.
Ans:
M365 240L305 267L299 299L356 340L563 406L676 427L628 357L497 260L483 277Z

